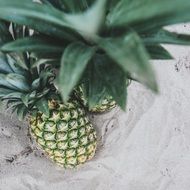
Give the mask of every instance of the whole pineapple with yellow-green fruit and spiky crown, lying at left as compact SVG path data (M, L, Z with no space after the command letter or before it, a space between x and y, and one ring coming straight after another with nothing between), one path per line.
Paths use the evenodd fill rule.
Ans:
M29 33L16 25L12 29L14 39L17 31ZM0 99L6 100L19 119L28 115L29 131L48 158L73 168L93 158L96 131L76 100L71 97L62 102L51 64L52 60L36 60L30 53L0 52Z

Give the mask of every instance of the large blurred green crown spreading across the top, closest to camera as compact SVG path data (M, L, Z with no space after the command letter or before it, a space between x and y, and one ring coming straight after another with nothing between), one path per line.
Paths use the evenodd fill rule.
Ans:
M35 31L11 42L0 33L1 50L58 60L65 101L82 82L90 107L109 94L125 109L129 79L158 91L149 60L172 59L161 44L190 44L163 28L190 21L189 10L189 0L0 0L2 20Z

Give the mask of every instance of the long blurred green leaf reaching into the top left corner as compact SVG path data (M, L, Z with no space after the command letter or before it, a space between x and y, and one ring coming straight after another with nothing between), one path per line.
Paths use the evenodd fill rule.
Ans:
M10 14L11 13L11 14ZM48 13L48 14L47 14ZM76 40L79 35L69 29L66 15L49 5L31 0L0 0L0 18L29 26L39 32L66 40Z

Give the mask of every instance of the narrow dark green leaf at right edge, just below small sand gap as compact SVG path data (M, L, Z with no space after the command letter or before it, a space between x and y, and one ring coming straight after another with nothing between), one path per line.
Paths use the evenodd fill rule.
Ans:
M141 35L145 45L152 44L176 44L176 45L190 45L190 35L178 34L169 32L167 30L159 30L152 34Z

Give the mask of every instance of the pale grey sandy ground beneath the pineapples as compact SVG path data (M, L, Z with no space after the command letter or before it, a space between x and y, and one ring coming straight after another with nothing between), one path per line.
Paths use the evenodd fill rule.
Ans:
M167 48L176 60L153 63L160 94L132 83L126 113L94 116L98 151L78 169L47 160L27 124L1 109L0 190L189 190L190 48Z

